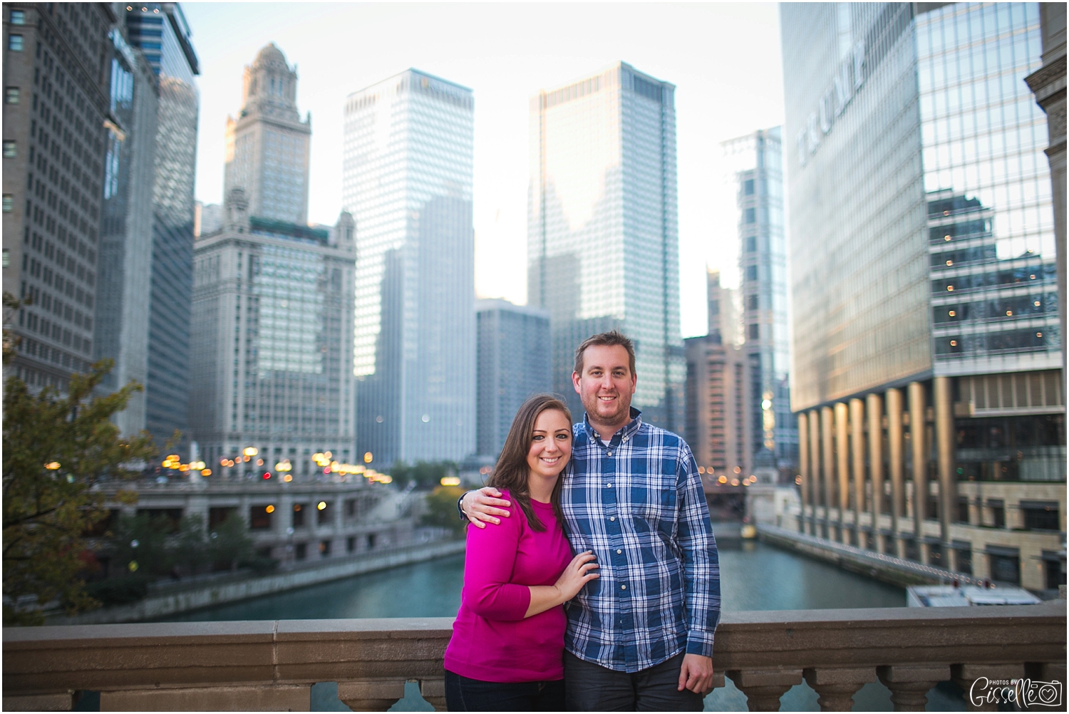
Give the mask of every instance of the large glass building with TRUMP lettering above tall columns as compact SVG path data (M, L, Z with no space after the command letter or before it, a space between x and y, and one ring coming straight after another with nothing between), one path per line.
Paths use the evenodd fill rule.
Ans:
M783 5L801 527L1065 581L1035 3ZM849 187L849 188L847 188Z

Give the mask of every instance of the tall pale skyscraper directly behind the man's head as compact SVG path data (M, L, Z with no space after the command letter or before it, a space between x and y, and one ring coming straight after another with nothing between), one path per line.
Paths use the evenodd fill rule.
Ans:
M530 103L527 302L549 311L554 390L585 338L635 341L644 418L682 429L675 87L620 62Z

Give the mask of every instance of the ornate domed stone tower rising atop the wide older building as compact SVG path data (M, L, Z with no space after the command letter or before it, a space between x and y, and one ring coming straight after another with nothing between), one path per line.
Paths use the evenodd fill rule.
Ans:
M239 186L250 216L307 223L311 138L311 115L297 112L297 69L270 43L245 67L237 119L227 118L223 196Z

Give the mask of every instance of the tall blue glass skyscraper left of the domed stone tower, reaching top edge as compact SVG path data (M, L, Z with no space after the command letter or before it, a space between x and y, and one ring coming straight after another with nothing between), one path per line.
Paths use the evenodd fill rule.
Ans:
M152 285L145 426L162 446L187 432L189 307L193 273L193 181L200 74L191 32L174 2L127 5L126 28L156 74Z

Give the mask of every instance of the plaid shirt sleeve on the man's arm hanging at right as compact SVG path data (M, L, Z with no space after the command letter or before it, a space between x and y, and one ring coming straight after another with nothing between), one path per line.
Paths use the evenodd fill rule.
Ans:
M682 441L677 463L679 546L686 590L686 653L713 656L713 633L721 620L721 566L709 521L706 493L691 448Z

